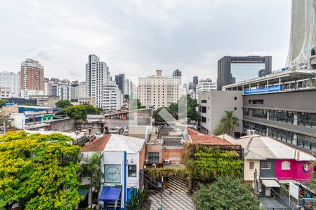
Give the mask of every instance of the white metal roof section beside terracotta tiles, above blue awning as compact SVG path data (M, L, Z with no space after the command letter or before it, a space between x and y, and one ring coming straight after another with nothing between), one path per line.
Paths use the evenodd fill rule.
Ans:
M126 151L139 153L145 144L145 139L112 134L103 151Z

